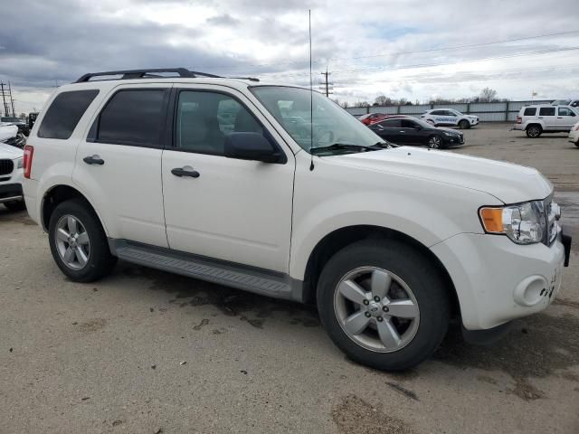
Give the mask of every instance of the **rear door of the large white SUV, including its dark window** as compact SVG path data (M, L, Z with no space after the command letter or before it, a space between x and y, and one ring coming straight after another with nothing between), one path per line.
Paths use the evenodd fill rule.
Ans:
M161 155L170 83L109 91L77 150L73 181L117 239L167 247Z

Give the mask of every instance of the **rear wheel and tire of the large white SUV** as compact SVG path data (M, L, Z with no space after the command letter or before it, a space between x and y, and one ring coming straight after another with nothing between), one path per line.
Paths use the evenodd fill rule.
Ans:
M116 263L99 217L84 200L60 203L52 212L48 233L52 258L75 282L102 278Z

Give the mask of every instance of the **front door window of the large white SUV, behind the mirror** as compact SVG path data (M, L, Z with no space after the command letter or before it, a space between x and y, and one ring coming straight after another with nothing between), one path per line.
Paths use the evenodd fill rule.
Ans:
M262 135L263 128L250 111L232 97L193 90L179 93L176 147L199 154L223 156L225 136L232 132Z

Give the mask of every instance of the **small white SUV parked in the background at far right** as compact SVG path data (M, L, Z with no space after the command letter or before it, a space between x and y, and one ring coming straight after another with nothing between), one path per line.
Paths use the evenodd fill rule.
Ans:
M524 106L518 112L514 129L526 131L527 137L539 137L543 133L566 133L577 119L578 113L570 106Z

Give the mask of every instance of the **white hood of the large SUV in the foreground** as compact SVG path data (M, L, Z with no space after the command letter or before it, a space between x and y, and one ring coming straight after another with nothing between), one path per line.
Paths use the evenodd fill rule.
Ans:
M335 158L368 170L478 190L504 203L544 199L553 191L553 185L534 168L445 151L400 146Z

